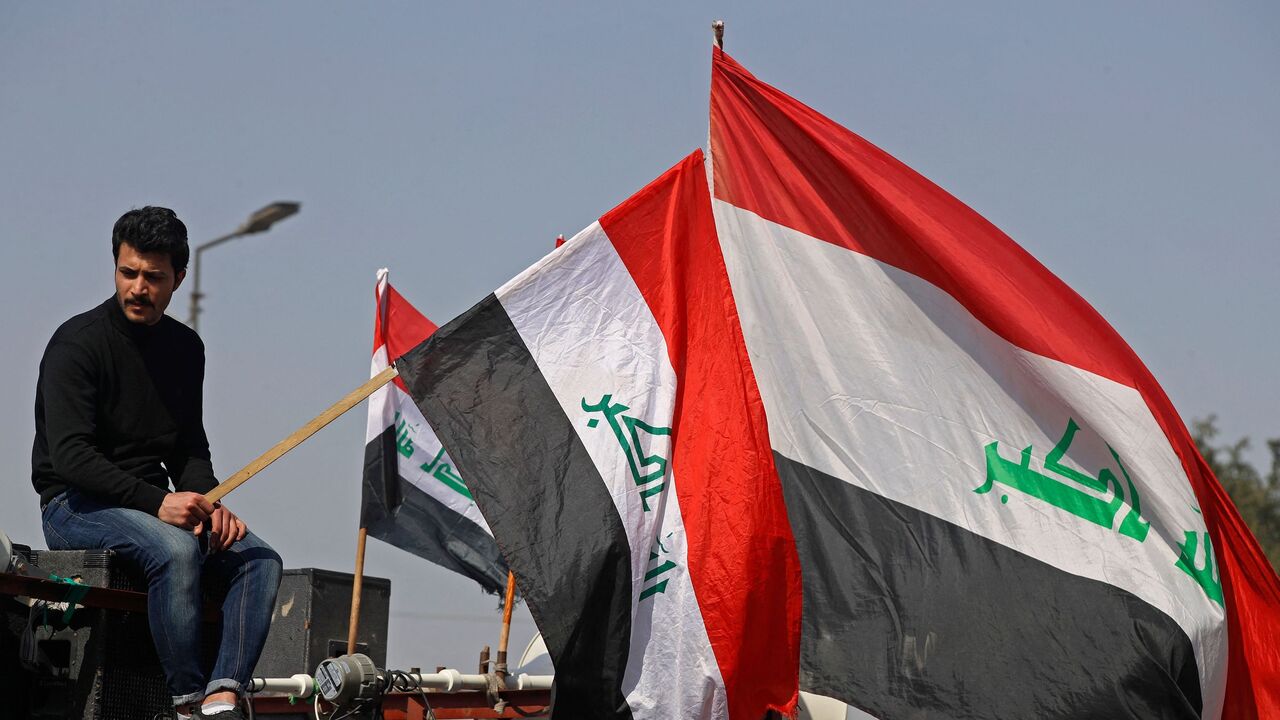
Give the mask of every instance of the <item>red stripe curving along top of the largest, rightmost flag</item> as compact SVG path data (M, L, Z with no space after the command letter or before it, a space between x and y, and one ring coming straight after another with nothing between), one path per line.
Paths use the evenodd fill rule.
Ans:
M1230 643L1224 717L1280 717L1280 579L1120 334L964 202L718 49L710 143L717 199L923 278L1006 341L1142 393L1190 478L1217 553Z

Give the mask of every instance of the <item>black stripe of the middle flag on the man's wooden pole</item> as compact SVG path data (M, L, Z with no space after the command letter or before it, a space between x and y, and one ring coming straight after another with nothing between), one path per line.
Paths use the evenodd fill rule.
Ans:
M554 715L631 717L626 530L502 304L490 295L396 366L516 573L556 664Z

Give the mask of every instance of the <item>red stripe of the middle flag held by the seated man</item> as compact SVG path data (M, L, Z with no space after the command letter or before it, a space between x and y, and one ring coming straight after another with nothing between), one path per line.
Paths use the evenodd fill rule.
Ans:
M730 716L755 720L795 708L800 565L705 177L694 152L600 225L667 341L689 574Z

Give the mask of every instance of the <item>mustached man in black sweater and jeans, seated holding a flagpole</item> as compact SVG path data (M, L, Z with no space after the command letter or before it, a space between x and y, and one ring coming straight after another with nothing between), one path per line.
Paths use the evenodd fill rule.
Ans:
M131 210L111 252L115 295L63 323L40 363L32 482L45 539L51 550L109 548L138 566L178 716L238 720L280 556L202 495L218 484L202 419L205 346L164 314L187 272L187 227L165 208ZM229 587L211 676L200 648L207 574Z

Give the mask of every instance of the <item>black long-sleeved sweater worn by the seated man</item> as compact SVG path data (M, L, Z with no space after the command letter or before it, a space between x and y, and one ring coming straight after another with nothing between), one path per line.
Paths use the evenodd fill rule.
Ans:
M218 484L202 415L205 346L164 316L131 323L113 296L58 328L40 361L31 480L155 515L169 492Z

